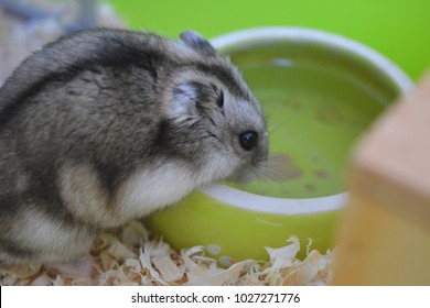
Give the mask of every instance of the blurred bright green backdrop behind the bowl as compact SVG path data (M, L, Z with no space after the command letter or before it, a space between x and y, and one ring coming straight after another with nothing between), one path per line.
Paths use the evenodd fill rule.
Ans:
M307 26L380 52L418 79L430 68L430 0L108 0L128 25L178 37L211 38L245 28Z

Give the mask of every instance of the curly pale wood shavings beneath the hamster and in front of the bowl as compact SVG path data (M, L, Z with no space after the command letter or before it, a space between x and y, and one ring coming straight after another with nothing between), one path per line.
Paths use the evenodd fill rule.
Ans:
M301 261L299 239L291 237L288 242L283 248L267 248L269 261L246 260L225 268L206 255L204 246L176 252L133 221L117 234L101 233L96 239L86 260L90 264L86 276L67 272L64 265L0 266L0 285L327 285L335 251L311 250Z

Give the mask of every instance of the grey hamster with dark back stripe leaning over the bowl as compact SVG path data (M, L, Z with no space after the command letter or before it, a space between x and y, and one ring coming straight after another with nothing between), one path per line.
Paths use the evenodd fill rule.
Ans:
M0 89L0 263L67 262L95 235L267 161L260 105L200 34L96 29ZM179 231L180 232L180 231Z

